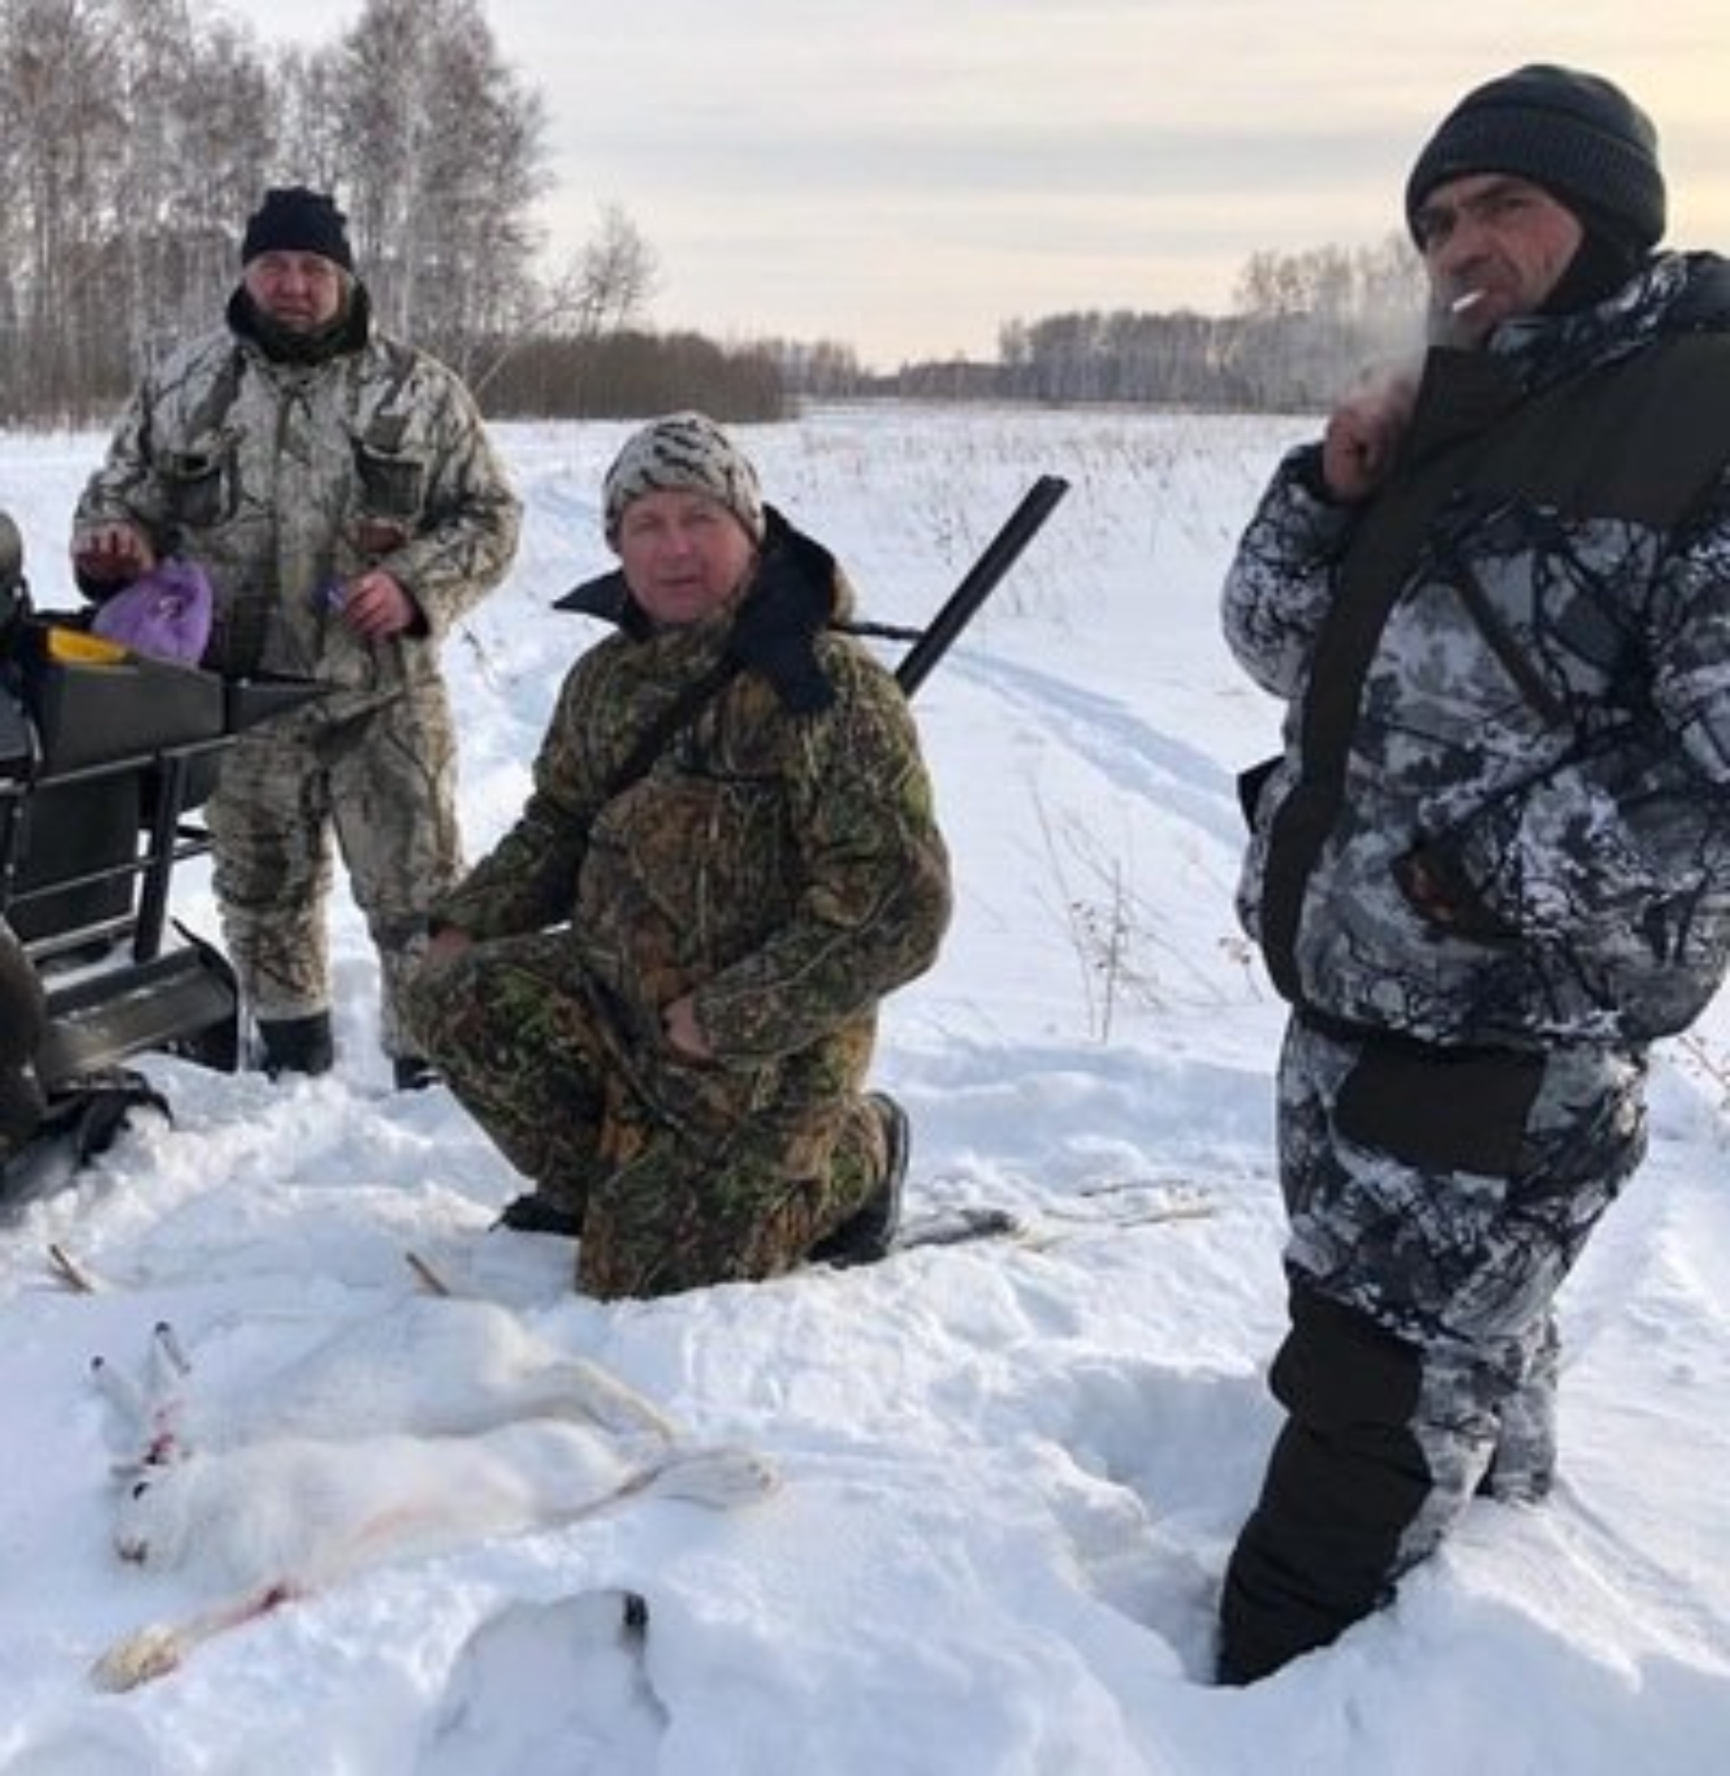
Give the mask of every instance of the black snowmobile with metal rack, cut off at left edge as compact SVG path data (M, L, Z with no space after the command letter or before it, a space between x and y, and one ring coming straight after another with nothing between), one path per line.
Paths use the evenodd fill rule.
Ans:
M133 654L83 613L36 613L0 513L0 1204L44 1144L69 1138L80 1163L130 1105L167 1108L131 1057L238 1066L234 973L172 922L174 870L210 851L195 810L222 749L316 694Z

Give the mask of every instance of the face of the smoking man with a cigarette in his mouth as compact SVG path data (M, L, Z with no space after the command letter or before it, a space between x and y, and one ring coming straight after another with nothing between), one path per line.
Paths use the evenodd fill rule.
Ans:
M1437 185L1412 226L1435 302L1465 345L1544 307L1584 236L1549 192L1503 172Z

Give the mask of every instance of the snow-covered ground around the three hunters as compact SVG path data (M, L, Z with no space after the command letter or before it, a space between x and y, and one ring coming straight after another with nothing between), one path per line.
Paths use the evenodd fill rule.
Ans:
M623 426L504 426L508 586L449 646L464 808L520 803L568 659L549 602L606 565ZM597 1305L559 1241L488 1233L515 1179L442 1090L393 1096L337 909L337 1071L165 1062L69 1188L0 1215L0 1769L739 1776L1481 1776L1725 1767L1730 1744L1730 1005L1664 1050L1655 1140L1565 1296L1565 1483L1474 1506L1385 1614L1245 1693L1211 1606L1275 1428L1270 1074L1281 1011L1231 913L1233 773L1275 710L1218 581L1295 421L824 410L744 428L771 497L918 623L1043 472L1073 487L920 691L957 877L938 968L885 1018L915 1215L1028 1238ZM37 602L101 440L0 439ZM215 932L197 868L176 911ZM55 1284L59 1241L103 1284ZM641 1499L330 1584L124 1696L114 1641L220 1595L110 1549L89 1359L171 1320L194 1389L268 1398L384 1316L425 1252L464 1288L778 1463L737 1513ZM456 1385L453 1376L451 1385ZM368 1426L371 1428L371 1426ZM387 1428L387 1426L380 1426ZM380 1458L382 1460L382 1458ZM622 1634L620 1591L648 1607Z

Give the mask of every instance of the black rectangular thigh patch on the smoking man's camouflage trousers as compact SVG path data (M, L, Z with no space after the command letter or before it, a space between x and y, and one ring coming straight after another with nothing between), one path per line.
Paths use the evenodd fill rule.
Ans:
M1512 1177L1542 1083L1544 1055L1371 1041L1339 1087L1334 1124L1421 1170Z

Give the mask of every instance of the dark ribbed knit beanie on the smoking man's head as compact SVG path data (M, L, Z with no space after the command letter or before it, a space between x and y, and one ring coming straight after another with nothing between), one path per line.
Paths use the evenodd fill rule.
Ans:
M1595 231L1631 261L1664 234L1657 130L1599 75L1535 62L1467 92L1407 179L1405 220L1414 240L1430 192L1472 172L1531 179L1577 215L1590 213Z

